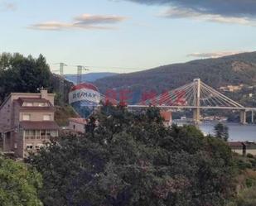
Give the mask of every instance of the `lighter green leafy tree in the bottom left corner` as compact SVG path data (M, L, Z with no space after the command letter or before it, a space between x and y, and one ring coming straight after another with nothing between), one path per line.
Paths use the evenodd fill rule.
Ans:
M37 190L41 175L22 163L0 157L0 203L12 206L41 206Z

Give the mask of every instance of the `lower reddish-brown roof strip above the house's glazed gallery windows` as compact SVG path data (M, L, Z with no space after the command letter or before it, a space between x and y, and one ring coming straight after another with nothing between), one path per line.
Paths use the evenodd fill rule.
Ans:
M20 127L22 127L23 129L49 129L49 130L60 129L57 123L53 121L42 121L42 122L22 121L20 122Z

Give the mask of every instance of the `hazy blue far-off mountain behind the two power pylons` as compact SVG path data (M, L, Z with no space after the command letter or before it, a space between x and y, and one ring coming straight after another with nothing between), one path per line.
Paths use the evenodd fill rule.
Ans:
M94 82L97 79L101 79L104 77L114 76L118 73L112 72L99 72L99 73L88 73L82 74L82 81L83 82ZM65 79L69 80L72 83L76 83L77 74L65 74Z

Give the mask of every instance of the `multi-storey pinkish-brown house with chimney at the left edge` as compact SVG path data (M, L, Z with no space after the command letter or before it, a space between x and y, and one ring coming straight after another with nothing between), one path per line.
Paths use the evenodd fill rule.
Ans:
M36 151L50 137L57 137L59 127L54 121L55 94L11 93L0 106L2 151L24 158Z

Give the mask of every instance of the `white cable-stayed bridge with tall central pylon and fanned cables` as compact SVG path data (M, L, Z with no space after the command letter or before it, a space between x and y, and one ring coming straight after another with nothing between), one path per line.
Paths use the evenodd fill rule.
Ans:
M254 122L254 111L256 111L256 108L246 108L236 103L231 98L200 81L200 79L194 79L190 84L162 93L157 97L128 105L128 108L148 108L151 106L162 109L192 109L195 123L200 122L201 109L238 110L240 112L240 123L242 124L246 123L246 113L249 111L252 112L252 122Z

